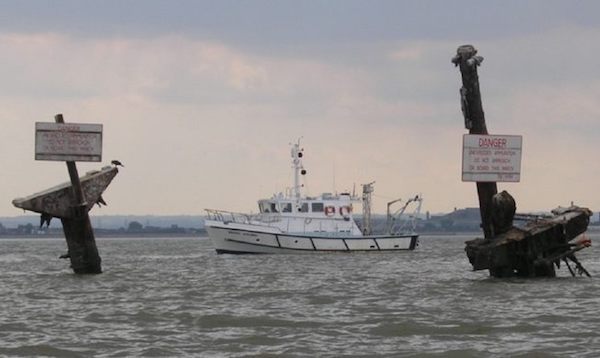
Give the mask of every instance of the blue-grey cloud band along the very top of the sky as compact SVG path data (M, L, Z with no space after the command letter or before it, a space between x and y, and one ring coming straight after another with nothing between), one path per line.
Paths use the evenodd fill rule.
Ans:
M356 42L483 40L556 24L598 26L597 1L4 1L0 31L83 37L186 34L256 49Z

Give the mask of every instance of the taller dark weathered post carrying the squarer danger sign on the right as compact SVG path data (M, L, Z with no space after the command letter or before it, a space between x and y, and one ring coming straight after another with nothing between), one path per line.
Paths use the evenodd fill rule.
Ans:
M452 62L460 68L462 88L460 89L461 108L465 118L465 128L469 134L488 134L485 116L479 92L479 76L477 66L483 57L476 56L477 50L471 45L460 46ZM481 228L486 239L494 236L492 224L492 197L498 193L496 182L477 182Z

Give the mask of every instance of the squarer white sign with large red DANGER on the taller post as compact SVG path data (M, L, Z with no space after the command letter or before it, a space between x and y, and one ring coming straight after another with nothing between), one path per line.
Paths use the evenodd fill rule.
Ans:
M522 144L522 136L465 134L462 180L520 181Z

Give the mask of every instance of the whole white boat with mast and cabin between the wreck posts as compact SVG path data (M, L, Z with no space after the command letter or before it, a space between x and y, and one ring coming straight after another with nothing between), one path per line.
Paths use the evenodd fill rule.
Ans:
M364 184L362 197L350 193L302 194L300 176L304 149L300 141L292 144L294 185L270 199L258 201L257 214L242 214L206 209L205 228L217 253L275 254L349 251L403 251L418 245L415 220L422 198L400 199L388 203L386 229L374 234L371 225L373 183ZM404 203L396 212L391 206ZM362 203L363 220L354 220L355 204ZM408 220L407 209L416 207ZM406 230L407 229L407 230Z

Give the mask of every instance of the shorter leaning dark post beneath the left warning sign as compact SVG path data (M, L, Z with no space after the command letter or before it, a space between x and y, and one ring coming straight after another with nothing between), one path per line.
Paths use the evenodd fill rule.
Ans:
M64 123L62 114L54 116L56 123ZM98 254L94 230L87 211L87 202L83 194L77 166L74 161L67 161L67 169L73 188L73 216L62 218L63 231L67 240L71 267L77 274L102 273L102 259Z

